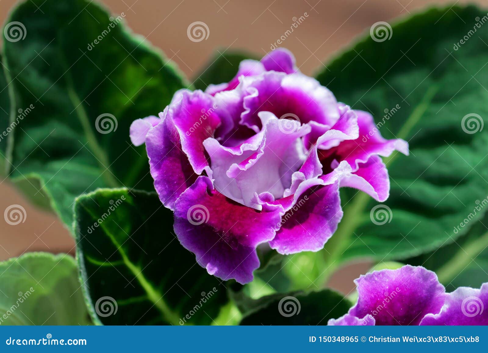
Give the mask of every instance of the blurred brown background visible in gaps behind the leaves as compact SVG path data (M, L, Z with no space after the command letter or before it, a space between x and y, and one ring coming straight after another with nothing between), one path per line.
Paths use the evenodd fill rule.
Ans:
M63 0L59 0L63 1ZM0 21L3 23L16 0L0 0ZM304 16L279 46L290 49L300 69L313 74L322 61L358 35L368 31L377 21L390 22L426 6L453 4L449 0L102 0L117 15L123 13L126 24L135 33L161 48L190 78L195 77L205 62L226 48L244 49L261 57L270 50L292 23ZM488 7L488 0L475 2ZM306 14L305 14L306 13ZM195 21L207 24L209 36L192 42L186 31ZM80 28L82 30L82 28ZM1 38L0 38L1 41ZM193 81L193 80L191 80ZM138 118L138 117L134 117ZM0 183L0 212L12 204L20 204L27 217L24 223L11 226L0 222L0 260L25 251L73 252L74 241L61 222L50 213L33 208L9 184ZM349 291L352 279L363 273L368 264L348 266L332 278L332 287Z

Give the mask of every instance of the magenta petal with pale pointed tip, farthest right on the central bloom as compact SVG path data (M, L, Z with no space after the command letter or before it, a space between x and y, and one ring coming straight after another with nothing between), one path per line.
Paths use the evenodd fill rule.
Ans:
M347 161L354 171L358 170L360 163L366 163L372 155L388 157L394 150L408 155L408 144L402 139L386 140L374 124L371 114L364 111L354 111L358 117L359 138L344 141L337 147L320 151L320 160L324 168L333 160Z

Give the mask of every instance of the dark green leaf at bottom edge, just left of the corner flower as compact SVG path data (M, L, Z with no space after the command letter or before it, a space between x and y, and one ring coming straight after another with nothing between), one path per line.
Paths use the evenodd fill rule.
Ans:
M352 303L335 291L322 290L273 294L260 298L256 305L241 325L327 325L329 319L344 315Z

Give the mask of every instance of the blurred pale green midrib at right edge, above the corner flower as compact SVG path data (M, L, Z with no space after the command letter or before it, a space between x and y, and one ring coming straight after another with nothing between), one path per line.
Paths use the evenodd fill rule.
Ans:
M449 283L452 281L487 246L488 232L463 245L463 249L459 249L456 255L451 257L447 263L436 271L439 281L441 283Z

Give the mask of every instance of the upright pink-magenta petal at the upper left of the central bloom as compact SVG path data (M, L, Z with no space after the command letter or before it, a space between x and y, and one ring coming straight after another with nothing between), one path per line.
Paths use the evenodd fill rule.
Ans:
M214 137L222 123L217 111L214 98L200 90L181 90L169 105L167 119L171 119L178 129L183 152L197 174L208 166L203 141Z

